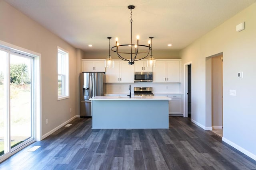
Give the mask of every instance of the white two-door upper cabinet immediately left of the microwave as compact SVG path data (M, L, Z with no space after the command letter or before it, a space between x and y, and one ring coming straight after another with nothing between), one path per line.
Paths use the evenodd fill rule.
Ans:
M134 83L134 65L115 61L114 68L106 68L106 83Z

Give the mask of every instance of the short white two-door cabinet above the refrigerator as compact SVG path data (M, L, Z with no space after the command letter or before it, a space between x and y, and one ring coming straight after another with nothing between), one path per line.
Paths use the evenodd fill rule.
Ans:
M82 60L82 72L105 72L104 60Z

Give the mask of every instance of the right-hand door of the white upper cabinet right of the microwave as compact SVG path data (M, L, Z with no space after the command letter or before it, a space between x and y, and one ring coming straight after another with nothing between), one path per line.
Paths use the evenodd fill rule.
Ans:
M166 82L179 83L180 80L180 61L166 62Z

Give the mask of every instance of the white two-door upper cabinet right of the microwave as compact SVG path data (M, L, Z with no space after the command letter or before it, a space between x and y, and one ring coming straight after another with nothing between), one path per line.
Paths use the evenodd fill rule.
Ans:
M153 82L155 83L180 83L181 60L157 60L153 67Z

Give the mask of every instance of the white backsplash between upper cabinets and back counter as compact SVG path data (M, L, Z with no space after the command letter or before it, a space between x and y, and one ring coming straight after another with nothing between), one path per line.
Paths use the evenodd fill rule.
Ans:
M181 83L152 83L152 82L135 82L135 83L107 83L107 94L128 94L129 85L132 93L134 87L152 87L152 93L182 93L180 92Z

